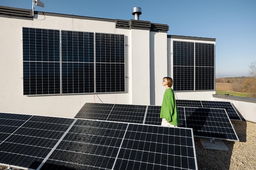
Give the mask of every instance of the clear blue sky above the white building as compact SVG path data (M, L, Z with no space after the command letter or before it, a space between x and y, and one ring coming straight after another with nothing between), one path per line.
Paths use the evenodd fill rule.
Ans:
M249 76L256 61L256 0L41 0L35 11L130 20L169 26L168 35L216 38L216 77ZM0 5L32 9L32 0L0 0Z

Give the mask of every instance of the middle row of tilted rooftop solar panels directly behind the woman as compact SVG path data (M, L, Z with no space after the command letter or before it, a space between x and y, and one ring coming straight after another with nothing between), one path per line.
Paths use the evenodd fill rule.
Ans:
M86 116L85 112L90 112L91 109L89 108L92 105L94 104L85 103L81 111L76 115L76 118L90 119L90 117ZM103 105L109 104L95 103L95 106L97 105L101 108ZM93 108L99 110L95 106ZM84 108L87 109L85 110ZM179 127L193 128L195 136L231 141L239 140L225 109L203 107L177 107L177 109L180 118ZM162 122L162 119L159 118L160 106L112 105L112 109L108 108L108 110L111 111L102 111L104 118L106 118L104 120L153 125L161 125ZM99 115L95 114L92 119L98 119L97 116L99 119L102 118L101 113L99 113Z

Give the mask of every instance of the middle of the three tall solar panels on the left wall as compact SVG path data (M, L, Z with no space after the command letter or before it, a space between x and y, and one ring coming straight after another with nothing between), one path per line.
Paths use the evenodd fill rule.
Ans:
M61 31L62 93L94 92L94 33Z

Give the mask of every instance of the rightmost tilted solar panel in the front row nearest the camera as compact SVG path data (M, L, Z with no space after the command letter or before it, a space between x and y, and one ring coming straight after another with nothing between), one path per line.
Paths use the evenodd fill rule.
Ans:
M186 133L186 129L174 129L174 131L159 126L130 125L114 169L122 169L122 167L126 169L139 169L141 167L195 169L195 163L191 164L190 167L188 166L189 160L188 155L186 155L191 151L193 153L192 137L181 137L182 134ZM162 138L159 137L163 133ZM179 136L175 136L175 134ZM160 138L162 141L159 141ZM162 147L158 147L159 144ZM182 146L182 144L186 145ZM189 146L189 144L192 145ZM180 153L181 148L183 151L186 150L183 155ZM191 155L190 159L195 161L194 155Z

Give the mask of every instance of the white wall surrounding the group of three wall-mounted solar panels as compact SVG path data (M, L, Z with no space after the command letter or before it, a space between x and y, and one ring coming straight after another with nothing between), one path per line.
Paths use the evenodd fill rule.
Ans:
M85 102L132 104L132 100L130 100L132 93L129 91L113 94L23 95L22 27L118 33L124 34L125 37L130 36L130 30L115 28L115 22L82 20L48 15L38 15L35 17L36 19L33 21L0 17L0 112L72 118ZM147 34L149 34L149 31L147 31ZM141 53L149 55L149 52ZM131 55L128 54L126 57L130 59ZM137 72L135 75L140 77L140 73L143 72ZM128 78L126 78L126 81L129 81ZM141 83L140 81L138 82ZM126 85L128 83L126 82ZM134 96L138 101L137 103L143 101L143 98L140 97L142 96Z

